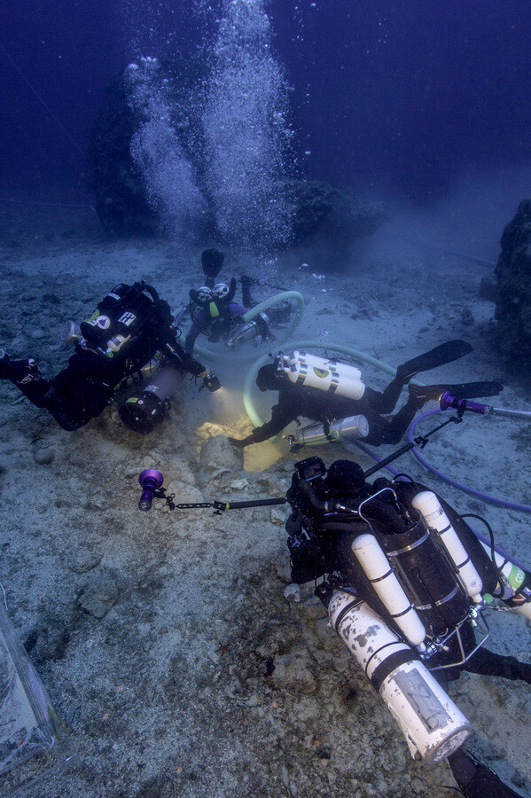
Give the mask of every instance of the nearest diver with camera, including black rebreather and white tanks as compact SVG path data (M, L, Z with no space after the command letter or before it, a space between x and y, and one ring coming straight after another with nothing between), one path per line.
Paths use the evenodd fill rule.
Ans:
M496 546L486 520L472 515L490 540L468 526L470 514L407 474L371 484L381 465L364 473L340 459L327 470L312 457L294 467L285 523L292 582L315 583L329 626L387 703L412 756L428 765L448 758L467 798L518 796L462 747L472 727L445 689L464 670L531 685L531 664L485 647L483 617L500 602L531 618L531 572Z

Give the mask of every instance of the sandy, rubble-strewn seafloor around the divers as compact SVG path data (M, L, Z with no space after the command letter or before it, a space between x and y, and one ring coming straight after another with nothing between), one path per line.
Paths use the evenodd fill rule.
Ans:
M0 215L0 345L14 357L35 356L45 376L70 354L59 341L63 320L80 320L115 283L144 278L172 307L201 283L199 248L184 255L164 240L107 239L90 209L4 205ZM225 252L227 280L263 269ZM345 270L315 277L325 265L294 253L278 260L277 274L266 270L306 299L298 337L340 342L394 366L463 337L472 355L425 381L502 377L504 394L493 403L529 406L496 356L494 305L478 296L488 270L413 250L402 262L358 253ZM386 384L382 372L362 368L371 386ZM181 501L284 494L301 456L282 439L246 450L246 468L234 453L217 473L200 467L209 438L251 429L241 401L245 369L220 363L215 371L223 392L193 398L187 384L171 419L148 437L107 412L66 433L0 383L0 580L82 761L34 794L456 794L445 763L428 771L411 760L311 589L300 604L285 600L285 508L213 515L170 513L159 503L138 512L137 476L146 466L160 468ZM327 464L345 457L338 446L307 451ZM530 451L525 424L471 416L433 438L425 454L473 488L531 504ZM362 455L360 462L371 464ZM400 468L461 512L484 514L496 541L531 563L528 515L442 484L410 455ZM94 585L114 600L101 618L82 608ZM489 622L490 647L531 661L521 615L490 614ZM474 726L471 750L531 795L529 685L465 674L449 692Z

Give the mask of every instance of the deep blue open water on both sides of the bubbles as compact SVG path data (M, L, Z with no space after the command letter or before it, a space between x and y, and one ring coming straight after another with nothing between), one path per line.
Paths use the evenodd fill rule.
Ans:
M212 35L214 16L193 5L2 0L0 181L84 191L105 86L135 47L156 55ZM271 0L269 12L309 177L383 178L424 201L456 172L531 159L523 0Z

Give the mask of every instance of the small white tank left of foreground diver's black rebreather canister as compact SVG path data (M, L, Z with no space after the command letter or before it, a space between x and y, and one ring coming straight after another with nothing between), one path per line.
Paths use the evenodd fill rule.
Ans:
M374 535L355 537L352 551L387 612L411 645L426 650L426 629Z

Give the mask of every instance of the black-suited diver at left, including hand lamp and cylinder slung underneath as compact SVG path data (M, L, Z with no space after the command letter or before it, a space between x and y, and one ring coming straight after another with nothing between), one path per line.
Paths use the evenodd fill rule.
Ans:
M168 302L144 281L114 286L79 325L74 355L56 377L44 379L33 358L11 360L0 350L0 379L11 380L71 432L99 416L125 379L152 364L149 384L119 410L125 426L148 434L165 418L185 374L202 377L211 391L220 387L217 377L184 352L173 321Z

